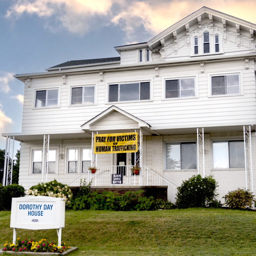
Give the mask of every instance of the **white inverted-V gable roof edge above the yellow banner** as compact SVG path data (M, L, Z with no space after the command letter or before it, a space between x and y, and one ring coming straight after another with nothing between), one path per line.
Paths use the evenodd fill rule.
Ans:
M90 125L93 125L93 123L96 123L97 121L99 121L100 119L102 119L103 117L107 116L109 113L113 112L113 111L117 111L127 117L129 117L130 119L138 122L138 126L139 127L146 127L146 128L150 128L151 125L149 125L148 123L146 123L145 121L139 119L136 116L133 116L132 114L116 107L115 105L112 105L111 107L107 108L106 110L102 111L100 114L98 114L97 116L93 117L92 119L90 119L89 121L87 121L86 123L84 123L83 125L81 125L81 129L89 130Z

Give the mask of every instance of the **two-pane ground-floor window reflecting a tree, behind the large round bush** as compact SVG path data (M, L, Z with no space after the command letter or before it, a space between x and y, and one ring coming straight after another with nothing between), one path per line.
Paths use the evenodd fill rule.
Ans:
M166 170L196 169L196 142L166 143Z

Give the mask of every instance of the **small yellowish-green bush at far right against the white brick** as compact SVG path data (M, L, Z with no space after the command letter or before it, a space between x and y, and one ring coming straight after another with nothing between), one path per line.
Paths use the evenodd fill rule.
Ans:
M229 206L231 209L246 209L253 208L254 195L248 190L238 188L234 191L229 191L223 198L225 199L224 205Z

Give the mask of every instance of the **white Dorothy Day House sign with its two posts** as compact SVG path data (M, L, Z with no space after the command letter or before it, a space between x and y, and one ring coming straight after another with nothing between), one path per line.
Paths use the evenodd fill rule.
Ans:
M62 227L65 227L65 198L26 196L12 198L11 224L16 229L57 229L58 246L61 246Z

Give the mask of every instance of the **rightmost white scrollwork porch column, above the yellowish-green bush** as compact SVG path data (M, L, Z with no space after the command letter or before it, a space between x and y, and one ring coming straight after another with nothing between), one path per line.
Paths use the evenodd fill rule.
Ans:
M251 126L244 125L244 161L245 161L245 185L246 189L253 190L253 169L251 156Z

